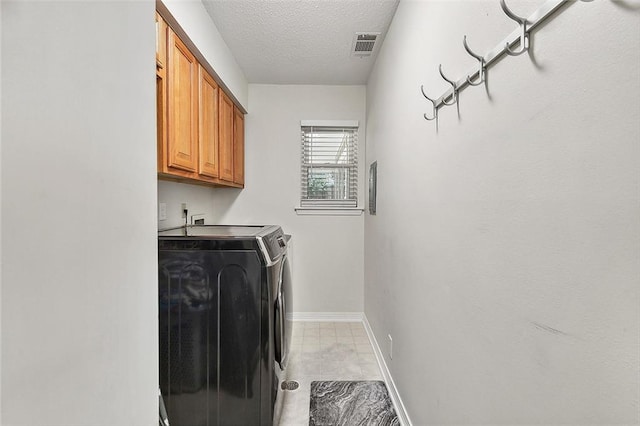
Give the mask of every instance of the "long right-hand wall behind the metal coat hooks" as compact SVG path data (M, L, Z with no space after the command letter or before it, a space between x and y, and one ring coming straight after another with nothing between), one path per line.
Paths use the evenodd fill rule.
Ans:
M420 85L514 29L497 1L400 3L367 86L365 313L416 425L637 424L640 14L572 2L437 133Z

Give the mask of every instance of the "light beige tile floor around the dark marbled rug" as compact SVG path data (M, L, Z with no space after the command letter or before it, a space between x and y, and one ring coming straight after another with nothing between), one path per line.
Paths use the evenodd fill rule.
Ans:
M383 380L360 322L294 322L286 378L300 387L283 392L280 426L309 425L312 381Z

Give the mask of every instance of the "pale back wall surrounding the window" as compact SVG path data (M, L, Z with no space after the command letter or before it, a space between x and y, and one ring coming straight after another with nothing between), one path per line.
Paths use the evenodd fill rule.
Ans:
M300 120L358 120L364 157L365 101L364 86L249 85L245 189L215 190L215 222L279 224L293 235L294 312L363 310L364 217L298 216L294 207Z

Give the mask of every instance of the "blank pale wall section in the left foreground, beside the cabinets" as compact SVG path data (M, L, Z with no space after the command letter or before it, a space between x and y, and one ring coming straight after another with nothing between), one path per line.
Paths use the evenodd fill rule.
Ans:
M4 425L154 425L153 1L2 2Z

